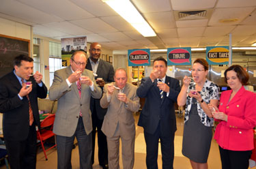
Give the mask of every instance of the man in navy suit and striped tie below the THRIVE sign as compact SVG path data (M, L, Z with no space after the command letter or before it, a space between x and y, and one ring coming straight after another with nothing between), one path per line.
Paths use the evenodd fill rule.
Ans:
M139 117L138 125L144 128L147 146L147 168L156 169L158 141L162 151L162 169L173 168L174 134L176 119L174 103L180 93L179 80L166 75L167 61L158 57L153 61L150 77L141 80L137 95L145 98L145 105Z

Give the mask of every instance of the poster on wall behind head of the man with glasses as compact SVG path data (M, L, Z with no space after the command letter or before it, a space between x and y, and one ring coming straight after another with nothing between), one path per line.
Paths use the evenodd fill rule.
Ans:
M76 50L87 51L87 37L61 38L62 67L70 65L70 57Z

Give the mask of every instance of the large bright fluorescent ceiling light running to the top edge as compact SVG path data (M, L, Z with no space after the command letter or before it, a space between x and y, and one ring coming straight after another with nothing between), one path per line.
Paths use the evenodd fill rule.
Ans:
M102 0L108 4L117 14L122 16L127 22L132 25L144 37L156 36L156 33L141 16L138 10L132 5L129 0Z

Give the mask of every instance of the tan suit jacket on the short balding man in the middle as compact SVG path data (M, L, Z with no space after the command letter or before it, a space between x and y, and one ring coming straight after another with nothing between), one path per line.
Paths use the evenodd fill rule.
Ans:
M107 102L106 91L107 89L105 85L104 94L100 99L100 106L102 106L102 108L108 108L108 110L102 124L102 132L107 137L113 137L118 124L122 138L134 138L135 126L132 112L137 112L140 107L139 97L136 94L137 87L130 83L126 83L123 93L125 93L128 98L128 104L117 99L119 90L115 90L113 95L111 95L111 101Z

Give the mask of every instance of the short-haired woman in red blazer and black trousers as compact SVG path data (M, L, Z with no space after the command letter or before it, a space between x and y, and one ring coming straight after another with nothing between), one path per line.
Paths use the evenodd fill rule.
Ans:
M232 65L224 74L231 90L221 93L220 104L212 111L219 121L214 139L219 145L223 169L247 169L256 125L255 93L244 89L249 77L240 65Z

